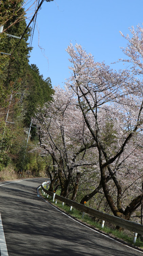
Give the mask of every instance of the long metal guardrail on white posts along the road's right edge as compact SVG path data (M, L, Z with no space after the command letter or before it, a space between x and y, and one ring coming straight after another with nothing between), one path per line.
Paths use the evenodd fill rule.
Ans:
M107 221L109 223L114 224L115 226L119 226L121 228L135 232L134 238L133 238L133 243L136 243L138 234L143 235L143 225L135 223L135 222L127 221L126 219L122 219L122 218L110 215L108 213L97 211L97 210L87 207L81 203L77 203L77 202L67 199L65 197L58 196L55 193L48 191L48 186L50 185L50 183L51 183L50 181L43 182L41 185L41 188L42 188L42 193L44 193L44 195L47 195L47 198L49 196L53 197L53 202L54 202L54 199L56 199L55 203L57 203L57 200L60 200L62 202L62 206L64 206L64 203L66 203L70 206L70 211L72 210L72 207L74 207L75 209L77 209L79 211L82 211L82 213L83 213L82 218L84 217L85 213L88 213L96 218L104 220L104 221L102 221L102 228L104 227L105 221ZM45 188L45 186L47 189Z

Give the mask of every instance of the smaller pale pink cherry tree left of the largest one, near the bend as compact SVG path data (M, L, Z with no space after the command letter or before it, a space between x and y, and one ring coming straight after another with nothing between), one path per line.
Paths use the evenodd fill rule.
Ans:
M53 101L39 109L33 122L39 127L41 148L53 161L54 177L50 176L50 189L59 180L61 196L67 197L72 190L72 200L75 200L84 168L96 164L89 152L96 144L88 132L73 92L68 88L55 87Z

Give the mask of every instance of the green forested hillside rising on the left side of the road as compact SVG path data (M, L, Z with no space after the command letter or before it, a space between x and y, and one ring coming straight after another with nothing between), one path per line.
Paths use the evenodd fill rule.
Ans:
M23 1L2 1L0 34L0 178L11 175L40 175L46 161L36 153L28 153L37 143L36 128L26 145L31 118L37 107L51 100L54 93L51 80L43 79L38 67L29 65L28 28L21 42L19 38L27 27ZM21 18L19 18L21 17ZM12 25L12 26L11 26ZM16 37L10 37L7 34ZM6 54L5 54L6 53ZM7 55L8 54L8 55ZM11 54L11 55L10 55ZM9 174L12 172L11 174Z

